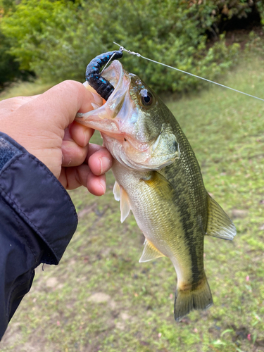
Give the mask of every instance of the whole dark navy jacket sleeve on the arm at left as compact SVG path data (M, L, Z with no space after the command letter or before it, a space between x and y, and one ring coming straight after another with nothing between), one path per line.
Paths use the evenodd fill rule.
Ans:
M58 264L77 227L70 196L46 166L0 132L0 340L34 268Z

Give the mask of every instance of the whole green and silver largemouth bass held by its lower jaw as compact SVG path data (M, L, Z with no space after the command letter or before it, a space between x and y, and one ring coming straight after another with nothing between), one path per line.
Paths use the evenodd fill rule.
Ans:
M92 70L101 67L98 58ZM97 91L99 76L93 78ZM206 191L187 137L153 89L118 60L103 71L101 81L112 87L104 95L106 103L94 103L93 111L78 113L75 120L99 130L113 156L113 193L120 201L121 222L132 210L145 237L139 262L170 258L177 274L174 318L180 321L191 310L213 305L203 265L205 236L232 240L236 228ZM88 82L84 85L89 89Z

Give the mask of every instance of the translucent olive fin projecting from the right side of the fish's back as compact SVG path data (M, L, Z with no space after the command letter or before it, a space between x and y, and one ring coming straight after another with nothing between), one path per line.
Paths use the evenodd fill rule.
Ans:
M208 196L208 221L206 234L219 239L233 239L237 234L236 227L216 201Z

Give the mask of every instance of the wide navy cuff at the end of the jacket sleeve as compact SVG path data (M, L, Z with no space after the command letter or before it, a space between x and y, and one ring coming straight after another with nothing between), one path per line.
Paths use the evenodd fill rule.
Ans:
M41 161L1 132L0 194L46 244L41 262L58 264L77 227L73 202Z

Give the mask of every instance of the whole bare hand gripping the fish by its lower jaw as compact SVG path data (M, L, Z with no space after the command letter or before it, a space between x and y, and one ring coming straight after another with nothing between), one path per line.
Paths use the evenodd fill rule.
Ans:
M92 88L64 81L38 96L0 101L0 131L42 161L65 189L83 185L101 196L113 158L102 146L89 144L94 130L74 121L77 112L92 110L92 103L103 103Z

